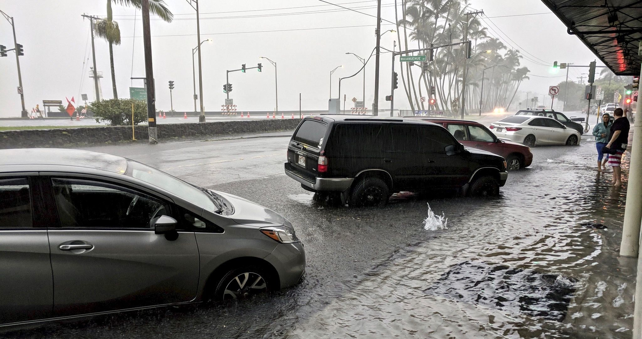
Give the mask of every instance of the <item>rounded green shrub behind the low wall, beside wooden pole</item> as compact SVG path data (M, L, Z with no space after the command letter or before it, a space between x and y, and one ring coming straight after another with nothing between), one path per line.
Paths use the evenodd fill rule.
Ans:
M96 122L107 122L112 126L132 124L132 103L134 103L134 124L147 120L147 103L135 99L107 99L90 103Z

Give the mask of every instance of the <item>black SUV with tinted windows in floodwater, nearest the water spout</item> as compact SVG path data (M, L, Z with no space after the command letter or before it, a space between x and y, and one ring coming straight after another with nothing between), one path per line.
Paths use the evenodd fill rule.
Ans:
M508 178L504 158L465 148L442 126L354 115L303 119L288 145L285 173L351 206L383 206L394 192L439 188L497 195Z

